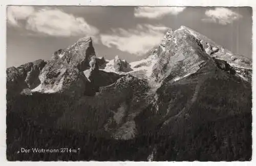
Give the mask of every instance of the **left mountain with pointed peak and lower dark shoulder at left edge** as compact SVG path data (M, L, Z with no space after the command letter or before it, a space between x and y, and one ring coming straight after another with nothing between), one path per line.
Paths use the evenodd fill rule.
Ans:
M98 71L96 62L92 66L94 57L96 56L92 39L81 38L68 48L55 51L48 62L38 60L18 68L8 68L7 90L13 91L15 94L19 94L25 89L26 94L34 92L63 93L73 97L93 95L99 86L112 84L120 77L115 73ZM88 72L88 70L93 71ZM95 79L108 81L104 83L92 78L89 79L88 75L84 74L85 72L92 75L93 78L95 78L93 76L95 74L92 73L99 73ZM30 78L31 75L34 78ZM26 85L20 86L19 84L24 84L24 81ZM27 85L26 81L32 81L33 86ZM7 93L7 96L9 94L11 93Z

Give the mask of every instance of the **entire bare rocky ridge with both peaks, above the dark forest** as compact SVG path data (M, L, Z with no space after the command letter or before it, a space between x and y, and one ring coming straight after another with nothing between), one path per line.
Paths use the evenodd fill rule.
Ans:
M175 31L168 29L159 45L147 52L145 59L132 63L121 60L119 56L115 56L113 60L105 60L104 57L96 58L92 38L80 38L66 49L58 49L53 53L51 60L45 62L40 73L37 72L40 81L31 86L34 88L32 91L57 92L65 85L73 85L70 78L73 77L72 81L76 82L84 77L83 73L90 73L85 71L91 69L90 62L93 57L96 68L104 72L132 74L139 78L153 79L159 83L166 77L172 77L175 81L187 77L197 72L206 62L215 64L222 70L233 71L232 73L247 81L251 80L252 73L251 60L231 53L204 35L182 25ZM14 73L8 72L12 80L11 75L15 75L16 70L8 69L8 71ZM69 75L68 72L72 74ZM24 79L26 74L24 72L22 74L25 75ZM82 80L87 82L84 78Z

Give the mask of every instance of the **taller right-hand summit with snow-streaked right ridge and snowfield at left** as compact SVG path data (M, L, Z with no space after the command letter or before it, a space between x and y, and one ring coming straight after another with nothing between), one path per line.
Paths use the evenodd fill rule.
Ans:
M132 62L131 66L134 71L145 70L147 75L161 81L169 74L179 73L180 75L184 71L184 75L187 76L194 73L201 68L200 64L209 60L211 63L217 63L212 59L225 61L238 76L248 81L251 79L252 63L249 59L233 54L223 46L183 25L175 31L169 29L159 45L147 53L146 59ZM177 80L182 76L175 77L174 80Z

